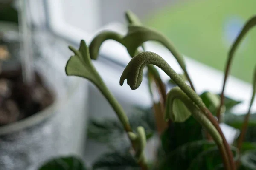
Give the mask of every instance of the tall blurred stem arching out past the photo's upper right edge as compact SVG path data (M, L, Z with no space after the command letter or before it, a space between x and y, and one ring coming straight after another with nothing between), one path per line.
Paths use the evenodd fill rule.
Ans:
M247 21L247 23L244 25L244 28L240 32L239 36L236 38L235 42L233 43L233 45L229 51L226 69L225 69L224 82L223 82L222 91L221 91L221 103L220 103L220 106L217 111L218 120L220 119L220 115L221 115L221 107L224 104L224 90L225 90L225 86L226 86L226 82L227 82L227 77L230 72L230 66L231 66L233 56L234 56L236 49L239 46L241 40L244 38L244 36L247 34L247 32L250 31L250 29L253 28L255 25L256 25L256 16L252 17L250 20Z

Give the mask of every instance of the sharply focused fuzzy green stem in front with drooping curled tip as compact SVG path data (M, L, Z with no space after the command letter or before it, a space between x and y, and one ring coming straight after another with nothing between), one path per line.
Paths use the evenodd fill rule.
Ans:
M234 170L233 154L217 120L212 116L212 113L210 113L210 111L204 105L202 99L195 93L195 91L193 91L192 88L190 88L189 85L187 85L186 82L184 82L183 79L158 54L153 52L142 52L133 57L123 71L120 78L120 85L122 85L124 80L127 78L129 79L127 81L129 82L131 89L137 89L142 82L143 68L148 64L153 64L161 68L171 79L173 79L180 89L183 90L187 96L189 96L189 98L198 106L198 108L200 108L210 122L212 122L214 127L218 130L218 133L221 135L226 153L229 157L231 170Z

